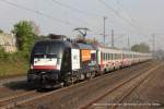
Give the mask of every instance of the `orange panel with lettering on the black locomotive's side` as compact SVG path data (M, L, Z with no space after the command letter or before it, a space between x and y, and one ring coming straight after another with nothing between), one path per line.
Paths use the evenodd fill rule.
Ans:
M81 50L82 61L91 60L91 50Z

